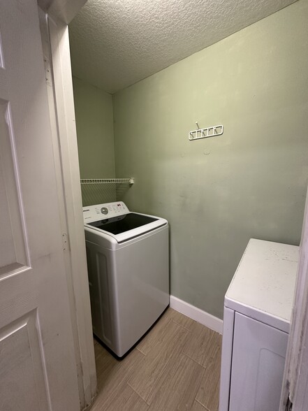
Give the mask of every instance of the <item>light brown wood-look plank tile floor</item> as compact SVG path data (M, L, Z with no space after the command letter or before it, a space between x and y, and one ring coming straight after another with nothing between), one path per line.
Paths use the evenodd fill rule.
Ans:
M168 308L123 360L94 340L91 411L217 411L221 336Z

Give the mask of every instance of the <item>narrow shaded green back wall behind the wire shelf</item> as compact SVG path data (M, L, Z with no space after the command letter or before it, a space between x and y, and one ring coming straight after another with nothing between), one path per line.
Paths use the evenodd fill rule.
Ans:
M112 96L73 77L81 178L115 178ZM83 206L115 201L115 186L82 186Z

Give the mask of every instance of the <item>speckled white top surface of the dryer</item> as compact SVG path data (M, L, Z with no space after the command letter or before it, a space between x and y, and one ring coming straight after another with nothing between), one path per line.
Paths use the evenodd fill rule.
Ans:
M298 251L251 238L225 296L225 306L288 332Z

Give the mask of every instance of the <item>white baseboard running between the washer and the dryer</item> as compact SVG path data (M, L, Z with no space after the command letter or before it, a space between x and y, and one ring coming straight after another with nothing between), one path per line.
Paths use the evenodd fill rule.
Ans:
M185 301L182 301L174 296L170 296L170 308L173 308L173 310L181 312L182 314L186 315L186 317L194 319L196 322L200 322L200 324L207 326L209 329L222 334L222 319L214 317L214 315L200 310L200 308L196 308L189 303L185 303Z

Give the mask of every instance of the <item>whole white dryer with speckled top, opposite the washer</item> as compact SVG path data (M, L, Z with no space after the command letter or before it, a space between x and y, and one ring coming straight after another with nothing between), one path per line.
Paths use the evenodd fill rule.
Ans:
M298 247L251 238L226 292L219 411L277 411Z

